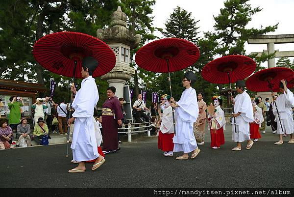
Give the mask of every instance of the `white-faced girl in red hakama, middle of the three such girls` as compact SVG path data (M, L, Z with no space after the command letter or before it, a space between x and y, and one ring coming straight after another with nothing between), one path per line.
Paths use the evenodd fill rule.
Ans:
M211 143L210 147L213 149L219 149L222 144L224 144L224 134L225 129L225 117L224 112L221 109L222 99L220 96L212 97L215 106L215 114L208 115L208 125L210 129Z

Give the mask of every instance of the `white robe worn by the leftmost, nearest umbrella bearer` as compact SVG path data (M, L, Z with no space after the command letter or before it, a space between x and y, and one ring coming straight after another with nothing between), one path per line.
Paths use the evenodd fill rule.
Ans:
M83 162L99 157L93 121L94 107L98 100L95 79L92 76L83 79L72 105L75 110L73 113L75 121L71 148L75 161Z

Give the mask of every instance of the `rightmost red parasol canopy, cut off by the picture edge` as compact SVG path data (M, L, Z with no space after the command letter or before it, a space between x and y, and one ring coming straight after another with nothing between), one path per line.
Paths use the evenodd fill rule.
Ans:
M278 91L281 80L290 82L293 78L294 71L291 68L267 68L250 76L246 81L246 87L256 92Z

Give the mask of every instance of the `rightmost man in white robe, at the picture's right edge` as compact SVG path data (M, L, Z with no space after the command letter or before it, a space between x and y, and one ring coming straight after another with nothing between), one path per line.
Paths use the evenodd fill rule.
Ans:
M276 107L273 106L272 109L272 113L275 115L275 121L278 125L276 133L279 134L280 137L279 141L274 143L276 145L283 144L283 134L290 134L290 141L288 141L288 143L294 143L294 121L292 117L292 106L294 103L294 96L293 92L291 92L287 88L285 80L281 80L280 92L282 94L280 94L275 101L280 118L278 117ZM281 128L280 119L283 129Z

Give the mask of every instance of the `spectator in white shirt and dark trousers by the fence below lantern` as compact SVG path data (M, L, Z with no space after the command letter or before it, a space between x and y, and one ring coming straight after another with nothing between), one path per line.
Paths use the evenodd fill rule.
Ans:
M143 117L145 119L145 122L149 122L149 117L144 113L144 110L146 111L150 111L144 101L142 100L142 94L138 94L137 96L137 100L135 101L134 105L133 105L133 109L134 109L134 116L136 119L136 123L140 122L140 118ZM147 123L147 125L149 125ZM138 127L139 125L137 125L136 127ZM135 129L135 131L138 131L138 129Z

